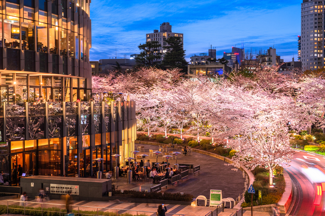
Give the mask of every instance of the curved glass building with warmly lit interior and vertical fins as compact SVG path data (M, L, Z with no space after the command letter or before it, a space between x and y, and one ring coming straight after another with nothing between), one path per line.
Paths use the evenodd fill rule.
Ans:
M0 1L0 172L87 177L131 156L133 101L90 101L89 0ZM40 100L40 98L43 98ZM41 101L41 102L40 102ZM113 164L114 163L114 164Z

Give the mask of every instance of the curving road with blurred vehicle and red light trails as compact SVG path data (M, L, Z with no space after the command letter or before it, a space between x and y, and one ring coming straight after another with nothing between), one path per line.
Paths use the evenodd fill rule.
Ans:
M325 215L325 156L296 151L290 166L283 168L296 187L294 205L286 215Z

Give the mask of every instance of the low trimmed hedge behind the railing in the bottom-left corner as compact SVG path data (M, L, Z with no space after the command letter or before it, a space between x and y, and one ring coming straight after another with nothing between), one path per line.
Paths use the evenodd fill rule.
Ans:
M51 203L46 203L51 204ZM20 205L9 205L10 208L15 209L9 209L9 214L24 214L24 206ZM18 208L18 209L17 209ZM94 208L95 209L95 208ZM57 212L50 212L50 211L57 211ZM140 211L141 212L141 211ZM42 216L42 208L41 207L28 207L26 206L25 210L26 215L31 216ZM64 214L67 213L67 210L65 209L65 206L63 205L61 207L61 216L64 216ZM72 213L78 214L78 210L72 210ZM7 214L7 205L0 205L0 214ZM79 211L79 216L87 216L87 214L93 214L97 215L97 210L94 211ZM133 216L133 214L129 213L122 213L122 214L116 214L116 212L108 212L108 211L99 211L98 215L104 215L104 216ZM138 214L139 216L146 216L146 214ZM60 209L58 207L52 207L52 208L43 208L43 216L60 216Z

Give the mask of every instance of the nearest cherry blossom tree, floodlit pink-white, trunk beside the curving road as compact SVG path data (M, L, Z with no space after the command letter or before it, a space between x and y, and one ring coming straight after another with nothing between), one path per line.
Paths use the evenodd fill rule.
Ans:
M222 86L219 91L215 106L222 107L228 118L223 122L228 130L222 134L234 139L230 145L238 153L233 161L251 170L256 166L268 169L272 185L273 169L289 163L293 156L289 131L306 127L305 110L291 97L268 94L262 89Z

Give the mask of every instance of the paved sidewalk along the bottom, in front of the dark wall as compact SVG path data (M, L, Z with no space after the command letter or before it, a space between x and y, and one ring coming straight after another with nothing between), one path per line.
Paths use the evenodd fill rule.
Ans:
M11 204L18 204L19 199L10 199L10 200L17 200L17 202L12 202ZM64 201L63 200L50 200L43 204L44 208L53 207L53 204L62 204L64 208ZM1 205L7 205L7 200L1 200ZM100 201L77 201L74 205L79 206L80 210L89 210L89 211L105 211L105 212L118 212L121 213L129 213L133 215L141 214L141 211L150 211L146 212L146 215L155 216L156 210L159 204L148 204L148 203L130 203L130 202L120 202L120 201L112 201L112 202L100 202ZM28 204L27 206L32 207L41 207L40 204ZM74 210L78 210L78 207L75 206ZM81 207L82 206L82 207ZM166 204L167 207L167 216L176 215L176 214L184 214L186 216L197 216L203 215L205 216L209 212L213 211L213 215L216 215L216 208L214 207L204 207L204 206L190 206L190 205L173 205L173 204ZM104 209L109 208L109 209ZM169 213L169 214L168 214ZM6 214L3 214L6 215ZM211 215L211 214L209 214ZM224 212L222 209L218 209L218 215L220 216L233 216L236 215L236 209L229 209L225 208ZM241 215L241 211L238 212L238 216ZM251 215L250 211L245 211L244 216ZM266 216L271 215L270 213L266 212L253 212L254 216Z

